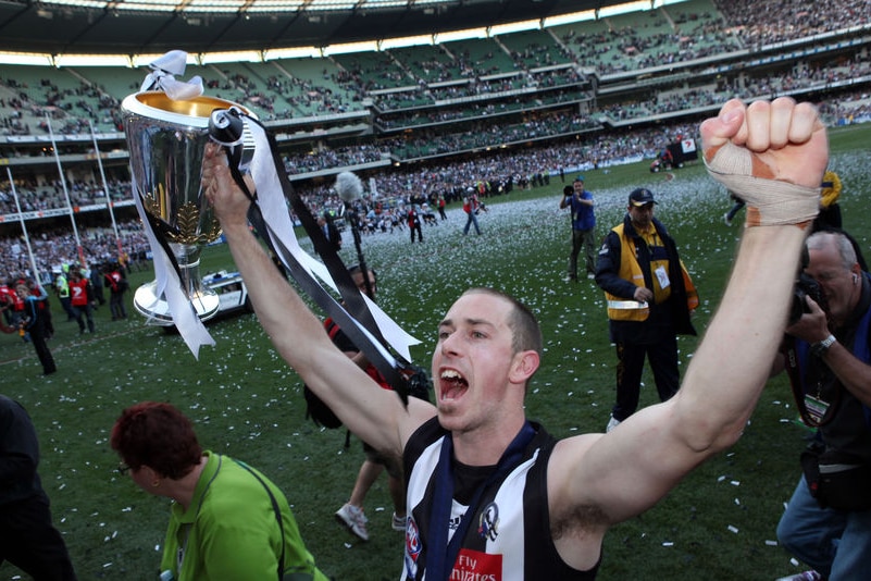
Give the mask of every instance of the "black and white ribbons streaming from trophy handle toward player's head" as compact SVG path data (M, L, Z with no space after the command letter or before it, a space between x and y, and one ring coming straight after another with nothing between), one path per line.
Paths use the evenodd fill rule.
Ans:
M341 327L402 401L407 403L407 382L399 368L411 361L409 347L420 342L357 287L341 258L318 227L308 206L294 190L275 141L263 125L234 108L213 112L210 127L214 128L213 140L226 148L234 180L251 198L248 219L254 230L266 240L299 287ZM242 154L244 141L253 144L250 161L247 154ZM242 172L250 173L256 195L248 190ZM359 195L353 187L353 180L349 182L347 176L339 188L346 201L356 193ZM299 246L287 202L302 223L323 262L315 260ZM338 293L344 306L321 283Z

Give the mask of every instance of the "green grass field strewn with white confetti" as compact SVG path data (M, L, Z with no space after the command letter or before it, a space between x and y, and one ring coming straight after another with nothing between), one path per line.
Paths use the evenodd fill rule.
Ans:
M844 224L869 249L869 129L832 132L831 168L844 182ZM741 235L722 215L731 201L698 166L673 180L650 174L646 163L586 172L596 196L598 234L617 224L629 191L657 193L657 217L671 230L701 295L699 333L717 308ZM528 416L557 437L601 431L613 403L615 356L608 342L604 298L589 281L562 282L569 219L558 211L563 184L488 200L483 236L461 235L464 214L425 226L422 245L407 233L363 238L368 262L378 271L379 304L422 341L413 355L428 366L435 329L447 307L469 286L495 286L537 313L546 351L527 396ZM304 246L304 243L303 243ZM346 262L356 262L346 233ZM203 272L233 268L225 247L209 248ZM150 272L134 273L134 286ZM759 297L764 300L766 297ZM49 379L33 346L0 336L2 392L24 404L42 450L40 472L55 524L64 533L80 579L147 580L158 574L169 502L150 496L115 472L109 432L120 411L144 399L178 406L210 449L244 459L287 494L319 566L336 579L396 579L401 534L390 530L386 480L366 502L371 541L359 542L334 520L350 494L362 460L360 444L344 449L344 430L322 431L304 419L301 383L273 351L256 318L210 323L217 344L194 359L177 335L146 326L133 313L111 322L108 305L97 332L78 337L53 304L57 336L50 346L59 372ZM132 310L132 309L130 309ZM133 311L132 311L133 312ZM682 364L696 346L681 338ZM741 366L742 361L733 364ZM651 378L642 404L656 401ZM784 378L770 382L744 437L695 471L657 507L614 528L606 537L599 579L771 580L800 570L773 543L774 528L799 475L807 432ZM0 566L0 579L20 571Z

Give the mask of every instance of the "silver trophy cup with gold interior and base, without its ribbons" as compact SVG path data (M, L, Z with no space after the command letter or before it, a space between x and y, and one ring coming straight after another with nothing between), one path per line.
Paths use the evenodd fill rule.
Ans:
M224 99L173 100L163 91L137 92L121 103L133 194L139 197L159 243L175 258L182 285L203 321L217 312L220 300L202 284L200 254L221 236L221 225L202 193L202 159L210 115L232 107L250 114ZM158 281L137 288L133 304L149 323L174 324Z

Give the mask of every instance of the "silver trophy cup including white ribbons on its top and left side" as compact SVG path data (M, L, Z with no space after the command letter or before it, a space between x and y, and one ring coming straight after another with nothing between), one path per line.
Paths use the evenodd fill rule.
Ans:
M201 321L213 317L220 302L199 272L202 248L221 235L200 184L210 118L215 110L232 108L251 113L232 101L202 96L199 77L176 81L186 59L185 52L172 51L154 61L139 92L122 102L121 113L134 198L155 272L155 280L134 294L134 306L150 324L175 324L196 356L199 344L213 344ZM200 337L191 339L190 334Z

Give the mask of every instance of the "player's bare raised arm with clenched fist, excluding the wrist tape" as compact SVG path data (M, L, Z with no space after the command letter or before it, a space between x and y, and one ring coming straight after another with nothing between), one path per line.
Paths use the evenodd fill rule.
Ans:
M719 116L702 123L701 136L708 163L726 146L748 158L725 170L766 180L748 196L763 207L767 184L777 182L777 193L787 195L793 186L818 187L828 163L825 128L816 110L792 99L749 107L729 101ZM689 470L737 441L786 325L808 225L804 214L801 209L792 223L781 217L783 225L747 227L720 308L676 396L635 413L607 435L558 445L555 454L561 461L551 461L549 472L558 514L589 508L585 514L593 517L582 526L598 536L609 524L656 504Z

